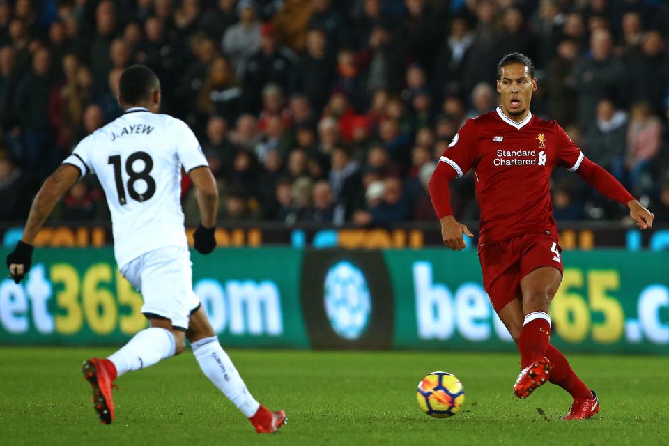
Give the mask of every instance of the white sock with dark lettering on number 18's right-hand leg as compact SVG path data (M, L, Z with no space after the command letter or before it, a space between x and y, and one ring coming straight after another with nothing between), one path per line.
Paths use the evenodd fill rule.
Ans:
M209 380L233 402L247 418L258 411L260 403L247 390L232 360L221 347L218 338L206 337L190 344L200 368Z

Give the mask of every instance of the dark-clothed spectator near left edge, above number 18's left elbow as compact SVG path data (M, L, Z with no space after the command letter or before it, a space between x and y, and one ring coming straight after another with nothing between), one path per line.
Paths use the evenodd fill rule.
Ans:
M22 129L20 160L22 165L28 168L50 168L54 162L60 160L50 159L53 155L49 150L52 143L52 128L48 115L52 89L49 79L51 69L49 50L38 49L33 56L32 66L32 70L17 84L13 101L13 109Z

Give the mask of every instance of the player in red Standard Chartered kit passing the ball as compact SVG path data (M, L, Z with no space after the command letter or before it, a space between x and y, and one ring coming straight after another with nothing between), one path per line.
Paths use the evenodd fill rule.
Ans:
M550 344L548 305L562 281L551 171L564 167L576 172L604 196L628 206L641 229L652 227L654 215L583 156L556 121L530 112L536 89L532 61L519 53L505 56L497 80L502 105L466 121L440 158L430 195L445 245L463 249L463 233L472 234L453 217L449 182L472 169L481 214L478 252L484 288L521 353L514 394L528 397L550 381L574 397L563 418L584 419L599 411L597 395Z

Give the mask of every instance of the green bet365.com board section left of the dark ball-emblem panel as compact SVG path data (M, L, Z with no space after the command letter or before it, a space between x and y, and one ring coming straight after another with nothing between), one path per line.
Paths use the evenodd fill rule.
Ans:
M192 261L194 291L222 343L308 346L298 293L302 252L217 249ZM37 249L21 284L0 282L0 343L123 344L147 326L141 305L111 248Z

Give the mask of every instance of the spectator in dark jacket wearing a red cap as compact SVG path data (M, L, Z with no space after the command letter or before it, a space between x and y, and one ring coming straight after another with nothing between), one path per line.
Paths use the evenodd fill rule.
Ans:
M298 74L295 72L297 55L288 47L279 45L279 36L271 23L261 26L260 35L260 49L244 65L245 87L251 91L263 91L263 87L272 83L284 92L293 91ZM257 108L256 105L254 109Z

